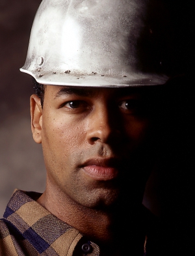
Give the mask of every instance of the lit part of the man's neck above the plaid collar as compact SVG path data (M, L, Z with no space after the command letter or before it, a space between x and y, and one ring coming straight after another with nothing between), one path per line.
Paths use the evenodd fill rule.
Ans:
M65 195L50 193L45 190L37 200L49 212L60 220L68 223L84 235L98 242L112 241L112 227L114 226L114 214L105 210L86 208L70 201Z

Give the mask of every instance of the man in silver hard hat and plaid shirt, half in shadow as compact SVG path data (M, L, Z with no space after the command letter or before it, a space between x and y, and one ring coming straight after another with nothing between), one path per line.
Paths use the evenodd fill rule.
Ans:
M31 127L47 185L42 195L14 192L0 222L1 255L153 255L142 197L168 81L154 7L42 1L21 71L35 79Z

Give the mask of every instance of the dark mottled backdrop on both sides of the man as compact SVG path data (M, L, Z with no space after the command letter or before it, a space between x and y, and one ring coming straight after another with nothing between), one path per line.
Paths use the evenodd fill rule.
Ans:
M194 74L192 1L166 2L172 3L176 31L175 37L172 35L172 57L177 57L177 64L172 66L179 66L180 70L184 66ZM38 192L45 188L41 145L36 145L31 135L31 78L19 72L39 4L40 0L0 0L0 217L15 188ZM188 240L194 205L193 79L183 88L172 92L174 104L167 124L170 134L164 147L166 160L149 178L144 204L173 225L179 239Z

